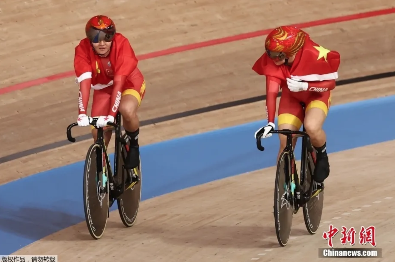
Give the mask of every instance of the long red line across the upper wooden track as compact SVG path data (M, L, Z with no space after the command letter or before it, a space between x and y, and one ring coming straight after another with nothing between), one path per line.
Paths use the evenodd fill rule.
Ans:
M395 13L395 7L389 8L389 9L370 11L370 12L366 12L366 13L357 13L354 15L344 15L341 17L332 17L332 18L326 18L326 19L317 20L317 21L310 21L310 22L304 22L304 23L299 23L299 24L293 24L293 26L297 26L299 28L307 28L307 27L313 27L313 26L321 26L324 24L334 24L334 23L338 23L338 22L346 22L346 21L351 21L351 20L356 20L356 19L375 17L375 16L379 16L379 15L388 15L391 13ZM179 47L172 47L169 49L151 52L148 54L142 54L142 55L137 56L137 58L139 60L146 60L146 59L155 58L158 56L166 56L168 54L189 51L189 50L198 49L198 48L202 48L202 47L209 47L212 45L219 45L222 43L229 43L229 42L239 41L239 40L248 39L248 38L252 38L252 37L264 36L265 34L268 34L272 29L273 28L269 28L269 29L265 29L265 30L259 30L259 31L249 32L249 33L245 33L245 34L239 34L239 35L235 35L235 36L227 36L227 37L223 37L223 38L213 39L213 40L199 42L199 43L193 43L193 44L189 44L189 45L182 45ZM48 77L42 77L39 79L29 80L26 82L22 82L19 84L14 84L12 86L7 86L4 88L1 88L0 95L6 94L9 92L13 92L15 90L22 90L22 89L29 88L32 86L37 86L40 84L45 84L45 83L48 83L51 81L60 80L60 79L66 78L66 77L73 77L73 76L75 76L74 71L68 71L68 72L59 73L56 75L51 75Z

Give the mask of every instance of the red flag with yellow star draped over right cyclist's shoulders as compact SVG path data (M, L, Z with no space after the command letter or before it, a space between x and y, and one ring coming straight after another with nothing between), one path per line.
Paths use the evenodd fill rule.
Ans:
M337 79L340 54L330 51L308 39L297 52L291 67L276 66L264 53L254 64L252 70L259 75L276 77L282 82L295 77L303 81L323 81Z

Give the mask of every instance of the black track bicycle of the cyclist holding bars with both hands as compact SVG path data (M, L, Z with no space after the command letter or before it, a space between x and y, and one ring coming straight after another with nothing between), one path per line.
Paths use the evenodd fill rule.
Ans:
M109 209L117 200L118 211L122 223L126 227L134 225L141 200L141 161L133 170L124 167L126 155L129 150L129 137L122 135L120 129L120 113L115 123L107 123L107 129L96 127L98 118L92 118L90 125L98 129L96 141L89 147L85 159L83 178L83 197L85 221L92 238L100 239L110 216ZM75 142L71 136L71 128L77 123L67 127L67 138ZM114 172L112 172L107 148L104 144L104 133L115 129Z

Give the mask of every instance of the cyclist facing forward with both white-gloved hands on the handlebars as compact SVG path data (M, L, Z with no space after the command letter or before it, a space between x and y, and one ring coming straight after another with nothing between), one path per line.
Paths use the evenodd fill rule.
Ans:
M92 88L91 116L98 117L97 127L115 122L119 111L123 126L130 138L130 150L125 168L139 165L139 118L137 109L145 94L145 80L137 68L137 58L126 37L117 33L114 22L106 16L96 15L85 26L86 38L75 47L74 69L79 83L78 119L79 126L90 125L92 118L87 114L89 92ZM92 136L97 130L92 127ZM105 145L111 132L105 133Z

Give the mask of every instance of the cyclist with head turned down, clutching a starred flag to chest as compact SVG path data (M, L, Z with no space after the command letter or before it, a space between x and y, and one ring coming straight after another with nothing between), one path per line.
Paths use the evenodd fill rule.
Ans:
M293 26L280 26L270 32L265 40L265 50L252 69L266 77L268 124L258 129L255 137L271 137L269 132L275 129L276 97L282 88L278 129L296 131L304 124L316 148L313 179L322 183L329 176L326 135L322 125L331 104L331 90L336 86L340 54L314 43L306 32ZM305 111L300 102L305 103ZM279 135L279 138L277 161L286 146L286 136Z

